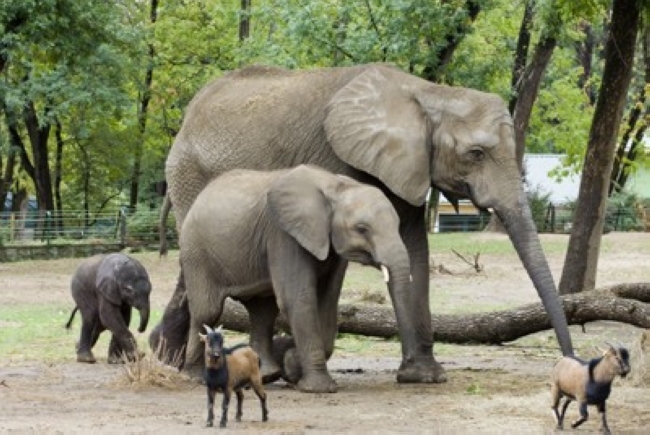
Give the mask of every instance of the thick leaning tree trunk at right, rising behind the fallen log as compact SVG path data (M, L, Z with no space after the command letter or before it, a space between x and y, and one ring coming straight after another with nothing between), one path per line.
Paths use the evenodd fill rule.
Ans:
M592 290L596 286L616 134L632 79L640 16L638 0L614 1L610 36L605 47L603 80L589 132L574 225L560 280L560 294Z

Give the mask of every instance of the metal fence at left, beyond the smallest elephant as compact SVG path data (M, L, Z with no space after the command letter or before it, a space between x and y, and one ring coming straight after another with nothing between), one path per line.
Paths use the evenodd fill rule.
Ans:
M130 213L86 213L84 211L0 214L0 245L53 243L66 241L110 241L124 246L159 242L159 210ZM168 223L167 238L175 240L173 220Z

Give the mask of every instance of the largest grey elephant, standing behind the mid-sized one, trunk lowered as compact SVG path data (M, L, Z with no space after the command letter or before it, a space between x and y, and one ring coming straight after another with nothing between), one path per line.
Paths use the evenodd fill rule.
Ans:
M413 284L398 295L402 340L398 382L444 382L433 356L427 191L492 208L549 314L564 354L566 317L542 252L515 156L513 122L496 95L432 84L370 64L312 71L249 67L194 97L166 162L178 228L208 181L233 168L270 170L310 163L378 186L400 217ZM345 264L341 265L344 269ZM188 312L177 287L154 331L178 352Z

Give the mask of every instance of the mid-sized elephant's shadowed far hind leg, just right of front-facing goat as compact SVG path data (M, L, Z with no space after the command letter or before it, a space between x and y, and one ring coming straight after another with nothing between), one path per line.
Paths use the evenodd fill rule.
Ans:
M252 298L243 304L250 318L250 345L262 362L262 380L273 382L280 377L280 366L272 353L275 319L279 312L275 296Z

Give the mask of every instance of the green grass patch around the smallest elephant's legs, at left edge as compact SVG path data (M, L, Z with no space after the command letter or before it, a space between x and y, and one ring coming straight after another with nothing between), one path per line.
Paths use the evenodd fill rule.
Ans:
M75 346L79 340L81 315L77 312L69 330L65 324L70 317L70 304L61 305L5 305L0 307L0 355L8 363L22 361L44 361L56 363L76 360ZM148 330L158 323L162 312L152 311ZM131 330L134 331L138 346L148 349L148 331L138 334L136 331L139 317L137 311L131 318ZM110 333L104 332L93 348L95 357L100 361L106 359Z

